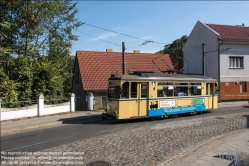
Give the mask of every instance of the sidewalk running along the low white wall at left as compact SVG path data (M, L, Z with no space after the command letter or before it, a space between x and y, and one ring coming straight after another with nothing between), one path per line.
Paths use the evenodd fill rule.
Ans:
M73 113L64 113L59 115L47 115L3 121L1 122L1 134L69 123L73 121L101 119L101 114L103 112L104 111L76 111Z

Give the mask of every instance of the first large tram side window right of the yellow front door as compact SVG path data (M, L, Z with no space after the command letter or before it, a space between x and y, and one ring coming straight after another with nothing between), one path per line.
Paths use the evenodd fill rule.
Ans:
M159 82L157 86L157 97L173 96L173 83Z

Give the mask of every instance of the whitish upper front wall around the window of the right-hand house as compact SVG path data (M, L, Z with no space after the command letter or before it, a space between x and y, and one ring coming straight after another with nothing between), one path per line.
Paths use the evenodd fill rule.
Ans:
M220 56L220 76L221 82L240 82L249 81L249 44L222 44L221 49L231 48ZM244 68L231 69L229 68L230 56L243 56Z

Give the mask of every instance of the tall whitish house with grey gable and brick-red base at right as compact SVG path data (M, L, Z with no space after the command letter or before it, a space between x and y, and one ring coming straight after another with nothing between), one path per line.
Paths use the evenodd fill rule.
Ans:
M219 101L249 99L249 27L198 21L182 50L183 72L217 79Z

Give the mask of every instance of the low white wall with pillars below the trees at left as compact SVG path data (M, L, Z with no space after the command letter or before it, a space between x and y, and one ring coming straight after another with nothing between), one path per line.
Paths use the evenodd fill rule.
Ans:
M38 104L34 104L31 106L19 108L1 108L0 99L1 121L25 117L58 114L63 112L75 112L75 95L73 93L69 97L69 102L66 103L44 105L43 95L40 95L37 100Z

